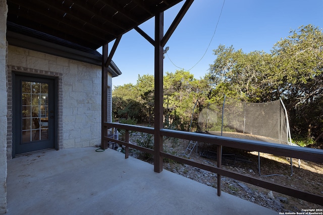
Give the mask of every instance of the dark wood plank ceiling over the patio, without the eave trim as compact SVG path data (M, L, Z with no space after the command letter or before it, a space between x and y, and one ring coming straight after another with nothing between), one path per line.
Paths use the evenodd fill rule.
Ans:
M96 50L182 0L8 0L8 25Z

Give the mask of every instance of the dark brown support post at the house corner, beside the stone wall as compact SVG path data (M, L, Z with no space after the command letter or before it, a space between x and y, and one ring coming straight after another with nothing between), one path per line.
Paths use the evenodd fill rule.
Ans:
M102 46L102 90L101 90L101 149L107 149L107 141L104 136L107 136L107 127L103 125L107 122L107 44ZM108 65L109 66L109 65Z

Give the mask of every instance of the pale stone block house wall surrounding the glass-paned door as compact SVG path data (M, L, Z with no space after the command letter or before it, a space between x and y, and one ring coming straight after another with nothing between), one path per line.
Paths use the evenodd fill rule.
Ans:
M9 87L12 84L12 71L58 77L59 149L90 147L101 143L101 66L9 45ZM111 79L109 76L110 89ZM9 93L8 109L12 110L11 90ZM11 158L12 130L8 130L8 133L7 154Z

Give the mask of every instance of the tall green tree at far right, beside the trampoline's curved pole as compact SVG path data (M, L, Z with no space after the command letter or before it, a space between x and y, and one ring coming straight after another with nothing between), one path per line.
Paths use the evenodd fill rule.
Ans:
M290 34L272 51L276 78L294 132L312 138L323 132L323 33L307 25Z

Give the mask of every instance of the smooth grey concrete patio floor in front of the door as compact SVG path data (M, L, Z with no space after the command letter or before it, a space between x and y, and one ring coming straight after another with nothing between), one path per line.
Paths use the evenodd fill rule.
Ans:
M8 161L7 214L278 214L108 149L64 149Z

